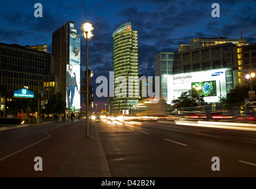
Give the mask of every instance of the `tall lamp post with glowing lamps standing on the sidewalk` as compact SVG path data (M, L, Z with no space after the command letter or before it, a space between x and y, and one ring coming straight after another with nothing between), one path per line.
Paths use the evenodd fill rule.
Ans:
M85 22L82 24L82 27L80 27L80 30L83 31L82 36L85 37L86 40L86 112L85 112L85 137L91 137L89 136L89 74L88 74L88 41L93 37L92 34L92 24Z

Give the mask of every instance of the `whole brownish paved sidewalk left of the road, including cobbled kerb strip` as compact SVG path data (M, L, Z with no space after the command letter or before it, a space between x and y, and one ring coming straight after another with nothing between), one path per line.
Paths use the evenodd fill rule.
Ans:
M98 123L85 138L85 120L56 122L59 128L44 133L43 140L0 161L0 177L111 177ZM35 157L43 159L43 171L35 171Z

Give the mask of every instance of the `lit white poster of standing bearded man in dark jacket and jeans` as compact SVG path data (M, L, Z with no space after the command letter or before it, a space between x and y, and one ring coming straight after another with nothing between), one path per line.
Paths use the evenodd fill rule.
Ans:
M67 64L66 77L67 108L74 107L80 110L80 66Z

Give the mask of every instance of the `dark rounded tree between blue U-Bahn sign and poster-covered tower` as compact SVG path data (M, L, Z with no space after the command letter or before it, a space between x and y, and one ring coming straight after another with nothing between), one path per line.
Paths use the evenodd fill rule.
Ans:
M46 113L54 113L57 116L60 113L64 113L65 108L66 102L64 102L62 94L57 92L50 100L48 100Z

